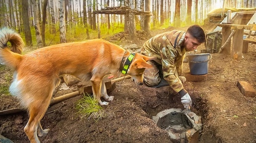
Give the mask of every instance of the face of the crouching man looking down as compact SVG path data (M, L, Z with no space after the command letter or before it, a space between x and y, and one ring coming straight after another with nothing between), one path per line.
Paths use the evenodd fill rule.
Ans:
M189 33L186 33L184 45L187 52L195 50L200 44L201 43L198 42L196 38L191 36Z

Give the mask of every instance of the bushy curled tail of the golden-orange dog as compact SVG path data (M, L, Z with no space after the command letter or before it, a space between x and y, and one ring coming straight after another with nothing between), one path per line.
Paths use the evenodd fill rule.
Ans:
M8 28L0 29L0 63L16 69L22 59L23 47L19 34Z

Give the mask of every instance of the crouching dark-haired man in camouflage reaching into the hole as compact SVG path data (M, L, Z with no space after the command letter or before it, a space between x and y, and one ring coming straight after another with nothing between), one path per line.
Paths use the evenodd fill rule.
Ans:
M145 70L144 82L148 86L156 86L163 76L173 90L180 94L184 107L189 109L192 106L192 100L182 84L186 81L186 77L180 76L183 60L186 52L195 50L205 41L205 32L199 25L190 26L187 32L173 30L147 40L143 44L141 53L156 57L156 60L149 61L154 68Z

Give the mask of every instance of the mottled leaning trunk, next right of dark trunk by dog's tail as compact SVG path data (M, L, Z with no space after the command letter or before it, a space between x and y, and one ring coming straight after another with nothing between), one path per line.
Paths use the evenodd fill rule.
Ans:
M31 0L32 6L33 6L33 15L34 15L34 28L36 31L36 42L37 42L37 47L42 48L42 38L40 34L40 26L39 26L39 21L38 21L38 8L37 8L37 2L36 0Z

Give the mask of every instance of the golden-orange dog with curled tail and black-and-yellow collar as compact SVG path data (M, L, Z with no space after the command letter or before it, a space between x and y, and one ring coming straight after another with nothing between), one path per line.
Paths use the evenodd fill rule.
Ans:
M100 99L102 96L106 101L113 100L113 96L107 95L103 77L117 76L121 71L142 85L145 68L152 67L146 61L153 60L138 53L132 55L103 39L57 44L21 55L23 47L20 35L8 28L0 30L0 63L15 71L9 91L29 113L24 131L31 143L40 143L38 136L46 136L50 131L42 129L40 120L49 107L60 75L71 74L84 81L90 80L94 99L100 105L108 105Z

